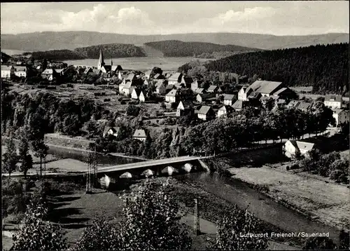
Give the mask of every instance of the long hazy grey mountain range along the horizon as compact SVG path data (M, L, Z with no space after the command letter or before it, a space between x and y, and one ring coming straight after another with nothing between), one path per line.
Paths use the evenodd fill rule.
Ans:
M307 36L274 36L244 33L190 33L169 35L127 35L100 32L34 32L26 34L1 34L1 48L7 50L62 50L96 46L107 43L132 43L141 46L155 41L180 40L206 42L248 48L295 48L328 43L348 43L349 34L330 33Z

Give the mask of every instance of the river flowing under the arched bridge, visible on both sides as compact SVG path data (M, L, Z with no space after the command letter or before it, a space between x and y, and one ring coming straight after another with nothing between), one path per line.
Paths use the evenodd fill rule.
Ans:
M79 161L86 161L88 153L86 151L67 150L59 147L50 147L50 154L61 158L73 158ZM124 163L139 162L132 158L109 156L99 154L99 165L116 165ZM330 233L330 238L337 242L339 229L321 224L321 222L311 221L304 215L295 212L276 201L251 189L244 182L237 179L230 179L218 174L209 172L193 172L187 175L175 176L186 182L197 184L205 191L223 198L230 203L235 203L239 208L246 208L253 212L258 218L278 226L286 232L305 233Z

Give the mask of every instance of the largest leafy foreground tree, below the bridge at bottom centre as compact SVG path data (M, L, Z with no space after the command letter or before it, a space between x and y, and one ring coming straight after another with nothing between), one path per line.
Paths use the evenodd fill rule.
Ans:
M128 198L120 225L122 250L189 250L191 238L179 220L179 205L167 184L146 181Z

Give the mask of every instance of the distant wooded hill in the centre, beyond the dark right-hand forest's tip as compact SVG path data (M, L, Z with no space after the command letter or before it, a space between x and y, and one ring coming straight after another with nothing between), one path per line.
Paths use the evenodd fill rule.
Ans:
M260 50L255 48L248 48L243 46L234 45L220 45L216 43L203 43L203 42L183 42L179 40L157 41L145 43L146 46L155 48L162 51L165 57L192 57L201 55L202 53L214 53L214 52L243 52Z

